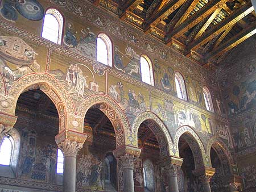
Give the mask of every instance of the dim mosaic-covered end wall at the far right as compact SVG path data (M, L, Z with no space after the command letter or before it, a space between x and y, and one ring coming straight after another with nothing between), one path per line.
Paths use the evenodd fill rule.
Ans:
M218 72L230 119L238 168L245 189L255 190L256 178L256 40L251 37L230 53Z

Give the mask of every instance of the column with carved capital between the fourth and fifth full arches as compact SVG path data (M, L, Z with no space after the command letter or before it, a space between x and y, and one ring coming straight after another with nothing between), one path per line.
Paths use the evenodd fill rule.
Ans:
M210 190L210 178L212 178L213 174L215 173L214 168L200 168L193 171L193 174L197 176L199 180L200 187L203 188L203 192L211 192Z

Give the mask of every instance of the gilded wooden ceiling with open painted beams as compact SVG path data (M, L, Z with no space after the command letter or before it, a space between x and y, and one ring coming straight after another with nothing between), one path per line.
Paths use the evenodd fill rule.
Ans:
M250 0L90 1L205 66L256 33Z

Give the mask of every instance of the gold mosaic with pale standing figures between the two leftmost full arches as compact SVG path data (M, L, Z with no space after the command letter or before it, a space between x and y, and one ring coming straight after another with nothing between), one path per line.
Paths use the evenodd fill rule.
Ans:
M89 95L105 93L105 72L100 67L53 52L50 73L65 86L76 106Z

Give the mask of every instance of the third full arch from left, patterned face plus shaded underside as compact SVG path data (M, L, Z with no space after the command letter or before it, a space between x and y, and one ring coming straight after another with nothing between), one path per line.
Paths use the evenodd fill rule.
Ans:
M162 156L164 156L164 151L166 150L166 155L174 155L172 152L172 137L166 125L156 114L151 111L144 111L135 118L133 123L133 132L135 133L136 137L138 137L139 126L141 126L141 123L143 122L146 122L148 127L155 134L160 145L160 152L162 153Z

